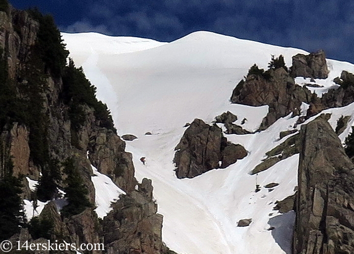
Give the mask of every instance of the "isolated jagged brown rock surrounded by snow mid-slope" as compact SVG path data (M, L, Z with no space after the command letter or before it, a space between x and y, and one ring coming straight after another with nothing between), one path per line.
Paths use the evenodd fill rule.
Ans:
M247 155L241 145L223 137L221 128L200 119L186 129L175 150L177 178L193 178L211 169L226 168Z

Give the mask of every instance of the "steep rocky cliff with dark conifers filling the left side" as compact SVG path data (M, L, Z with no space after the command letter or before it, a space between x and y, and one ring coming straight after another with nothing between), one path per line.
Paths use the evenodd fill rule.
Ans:
M18 179L21 191L8 193L16 201L52 201L28 229L23 214L11 217L12 231L1 222L1 240L47 238L104 243L108 253L166 253L151 181L137 183L132 155L105 104L95 98L96 88L72 61L66 65L68 52L51 17L7 5L0 11L0 49L0 187ZM127 193L102 221L94 211L91 164ZM25 177L38 181L35 192ZM58 189L69 202L61 213L53 202ZM1 195L1 202L6 198ZM118 252L110 247L117 243Z

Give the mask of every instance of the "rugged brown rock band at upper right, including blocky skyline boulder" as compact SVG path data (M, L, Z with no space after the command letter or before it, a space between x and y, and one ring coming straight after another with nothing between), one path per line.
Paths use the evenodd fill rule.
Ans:
M325 53L319 51L309 55L297 54L293 56L293 66L290 71L286 68L276 67L264 72L258 70L241 80L232 92L230 101L251 106L268 105L269 111L263 119L259 130L264 130L275 123L279 118L290 113L300 115L302 102L309 104L305 119L332 107L341 107L354 102L353 74L343 71L341 77L334 81L340 85L337 89L330 89L322 98L311 92L306 86L301 87L295 83L293 77L303 76L311 78L327 78L328 67Z

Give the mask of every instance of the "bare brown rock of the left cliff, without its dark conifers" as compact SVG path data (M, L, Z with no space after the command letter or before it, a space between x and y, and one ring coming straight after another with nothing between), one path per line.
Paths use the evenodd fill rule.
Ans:
M8 78L15 80L13 84L19 91L29 82L25 75L28 57L33 57L33 48L38 41L40 24L27 12L17 11L11 6L6 12L0 11L0 47L2 57L6 59ZM4 68L4 66L1 66ZM95 203L95 189L91 181L93 171L91 164L108 175L127 195L113 204L113 210L102 221L99 221L95 207L88 207L83 212L63 217L53 202L48 203L39 221L49 220L53 227L49 231L52 240L65 240L69 243L104 243L108 253L126 254L165 254L173 253L162 243L162 215L157 214L157 205L152 198L151 180L144 179L138 184L134 177L131 153L125 152L125 142L115 134L113 129L102 127L97 112L87 104L80 105L82 124L74 126L73 105L65 102L63 97L63 80L60 75L52 75L48 68L43 75L45 84L38 91L38 98L43 98L41 111L45 115L47 127L41 132L46 151L51 160L62 165L71 158L73 167L79 172L83 185L87 188L87 198ZM21 97L20 94L17 95ZM42 99L41 99L42 100ZM43 104L43 106L42 106ZM71 108L70 108L71 107ZM74 120L73 120L74 119ZM39 136L33 136L33 128L25 123L8 122L1 129L1 161L0 168L6 167L5 161L13 164L12 174L22 177L23 199L31 198L31 191L24 176L40 180L40 174L46 170L33 160L31 142ZM87 158L87 151L89 158ZM66 173L60 167L60 178L55 180L59 188L65 188ZM136 188L136 185L138 186ZM46 242L47 239L33 239L26 228L13 235L12 242L21 240L30 243ZM117 252L117 250L119 250ZM36 253L36 252L33 252ZM64 252L63 252L64 253ZM102 253L101 251L93 253Z

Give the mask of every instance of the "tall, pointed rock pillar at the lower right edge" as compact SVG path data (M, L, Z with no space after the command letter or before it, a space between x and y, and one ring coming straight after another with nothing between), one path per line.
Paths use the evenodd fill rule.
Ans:
M354 165L322 116L302 126L294 254L354 253Z

